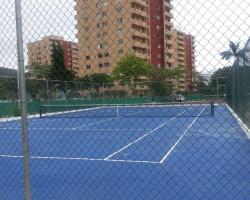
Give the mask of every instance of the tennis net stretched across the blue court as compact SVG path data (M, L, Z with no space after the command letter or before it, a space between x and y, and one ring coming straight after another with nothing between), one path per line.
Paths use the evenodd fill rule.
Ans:
M40 117L205 117L214 115L214 102L150 104L41 105Z

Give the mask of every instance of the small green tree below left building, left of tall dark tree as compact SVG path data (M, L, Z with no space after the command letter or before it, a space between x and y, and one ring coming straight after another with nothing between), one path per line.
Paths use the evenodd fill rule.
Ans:
M48 79L51 74L52 66L48 64L32 63L26 67L28 78Z

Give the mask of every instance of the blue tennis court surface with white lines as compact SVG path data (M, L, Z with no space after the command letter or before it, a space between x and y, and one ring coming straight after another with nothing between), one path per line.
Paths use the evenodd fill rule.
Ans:
M30 118L34 200L247 200L249 133L213 116ZM181 113L179 113L181 114ZM24 199L20 122L0 123L0 197Z

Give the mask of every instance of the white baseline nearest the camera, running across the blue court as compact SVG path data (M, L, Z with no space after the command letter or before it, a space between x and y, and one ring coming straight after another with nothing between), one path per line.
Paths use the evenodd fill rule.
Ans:
M17 158L22 159L23 156L15 155L0 155L0 158ZM149 160L105 160L101 158L81 158L81 157L57 157L57 156L30 156L30 159L37 160L80 160L80 161L105 161L105 162L120 162L120 163L139 163L139 164L160 164L159 162Z

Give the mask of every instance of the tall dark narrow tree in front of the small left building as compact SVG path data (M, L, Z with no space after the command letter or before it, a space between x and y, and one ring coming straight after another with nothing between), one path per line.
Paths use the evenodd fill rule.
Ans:
M62 81L71 81L75 79L75 73L65 67L63 49L61 45L56 42L52 44L51 62L50 79Z

